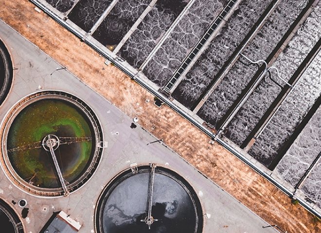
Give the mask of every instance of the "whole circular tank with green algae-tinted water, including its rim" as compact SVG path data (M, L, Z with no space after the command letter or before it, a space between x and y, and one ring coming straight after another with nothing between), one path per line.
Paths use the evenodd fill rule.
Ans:
M12 180L41 196L68 195L89 180L103 141L82 100L47 91L21 100L5 120L2 153Z

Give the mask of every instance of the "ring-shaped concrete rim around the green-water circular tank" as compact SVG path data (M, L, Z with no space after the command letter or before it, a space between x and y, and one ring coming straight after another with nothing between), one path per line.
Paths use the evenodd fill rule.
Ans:
M11 123L18 116L22 109L29 106L33 102L42 99L60 99L65 100L76 106L82 113L88 118L93 133L95 135L95 150L93 152L92 159L89 163L87 170L73 183L67 185L70 194L75 192L76 190L83 187L95 174L96 170L99 167L104 148L100 146L102 142L104 142L103 130L101 127L101 123L96 115L96 113L85 103L82 99L77 96L70 94L65 91L59 90L43 90L32 93L24 98L18 100L14 106L7 112L5 117L1 122L1 153L0 156L0 166L4 171L6 177L13 183L16 187L18 187L23 192L42 198L55 198L55 197L64 197L63 188L40 188L26 183L20 176L16 173L16 171L11 166L9 161L7 151L6 151L6 141L7 135L10 130Z

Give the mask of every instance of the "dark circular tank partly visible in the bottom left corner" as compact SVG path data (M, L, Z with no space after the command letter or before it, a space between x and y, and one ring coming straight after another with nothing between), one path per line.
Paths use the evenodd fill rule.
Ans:
M0 226L1 232L23 233L22 223L16 212L0 199Z

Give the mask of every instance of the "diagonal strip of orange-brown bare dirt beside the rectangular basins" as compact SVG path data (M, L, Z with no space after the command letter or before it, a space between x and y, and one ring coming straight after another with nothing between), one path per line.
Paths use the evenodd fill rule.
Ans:
M154 97L28 0L1 1L0 18L164 142L271 225L288 233L320 233L321 222L189 121ZM150 100L150 101L146 101Z

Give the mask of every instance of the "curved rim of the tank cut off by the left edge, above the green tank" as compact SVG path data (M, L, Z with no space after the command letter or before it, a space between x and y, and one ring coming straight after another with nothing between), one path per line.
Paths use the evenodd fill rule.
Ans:
M4 83L3 83L3 86L0 87L0 106L1 106L3 102L8 99L9 93L11 92L11 89L13 86L12 83L14 79L12 55L1 38L0 38L0 56L1 57L4 56L4 65L6 67Z

